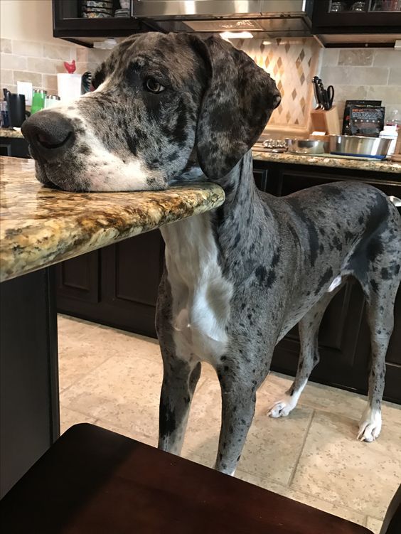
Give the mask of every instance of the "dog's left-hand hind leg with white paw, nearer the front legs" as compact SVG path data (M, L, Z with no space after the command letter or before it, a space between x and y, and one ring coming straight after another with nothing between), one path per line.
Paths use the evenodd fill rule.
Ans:
M270 417L285 417L296 407L296 403L309 380L312 370L319 363L318 335L321 319L323 319L329 302L342 286L343 284L338 285L332 292L325 293L299 321L301 352L299 354L296 377L291 388L279 400L274 402L270 408L268 412Z

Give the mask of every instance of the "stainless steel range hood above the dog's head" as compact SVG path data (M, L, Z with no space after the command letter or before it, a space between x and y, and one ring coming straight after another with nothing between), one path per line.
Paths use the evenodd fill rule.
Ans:
M249 31L255 37L311 36L313 0L132 0L132 16L159 31Z

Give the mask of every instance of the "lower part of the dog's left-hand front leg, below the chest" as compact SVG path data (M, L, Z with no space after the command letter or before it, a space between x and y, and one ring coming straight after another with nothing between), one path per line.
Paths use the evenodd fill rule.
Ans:
M201 376L201 363L175 356L164 358L159 408L159 449L180 454L193 392Z

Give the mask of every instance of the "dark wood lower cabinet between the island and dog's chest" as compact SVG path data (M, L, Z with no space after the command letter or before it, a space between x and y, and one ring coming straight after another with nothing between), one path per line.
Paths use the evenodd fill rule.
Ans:
M154 314L164 262L159 230L60 263L58 310L156 337Z

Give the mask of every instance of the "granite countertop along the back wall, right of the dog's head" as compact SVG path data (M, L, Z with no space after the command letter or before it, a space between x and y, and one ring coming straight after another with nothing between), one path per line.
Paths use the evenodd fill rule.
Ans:
M401 173L401 164L395 161L380 161L377 159L348 159L333 156L304 156L302 154L274 154L274 152L261 152L252 150L253 159L259 161L272 161L276 163L315 165L338 169L358 169L359 171L378 171L385 173Z

